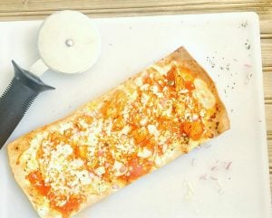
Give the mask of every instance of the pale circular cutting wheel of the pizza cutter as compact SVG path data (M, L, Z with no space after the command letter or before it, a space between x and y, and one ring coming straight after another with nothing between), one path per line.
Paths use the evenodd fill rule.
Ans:
M41 59L53 71L80 73L97 61L101 39L90 18L75 11L62 11L44 20L38 36Z

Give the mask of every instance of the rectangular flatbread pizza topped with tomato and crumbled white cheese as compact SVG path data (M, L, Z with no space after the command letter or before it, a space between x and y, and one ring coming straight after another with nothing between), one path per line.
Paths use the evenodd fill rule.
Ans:
M8 145L43 218L68 218L229 128L208 73L180 47L70 116Z

